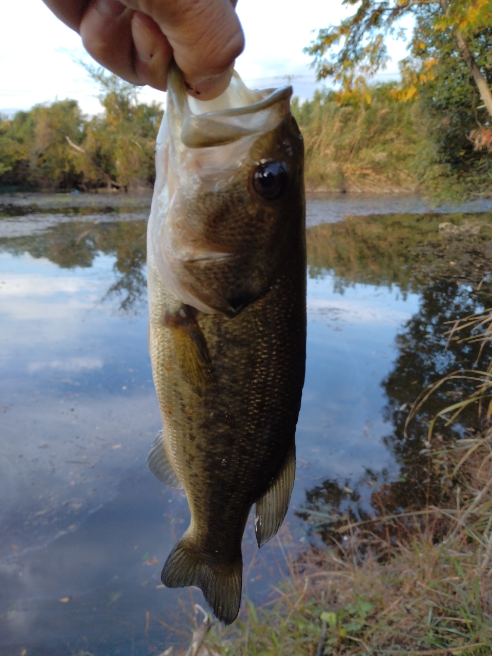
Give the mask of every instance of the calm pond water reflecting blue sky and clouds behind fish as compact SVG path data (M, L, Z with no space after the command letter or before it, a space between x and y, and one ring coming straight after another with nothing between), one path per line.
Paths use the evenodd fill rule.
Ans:
M186 642L192 598L204 604L160 582L189 512L184 493L145 466L161 428L147 350L149 201L0 198L5 656L161 653ZM328 510L377 514L382 491L394 512L422 500L422 426L466 387L443 388L407 440L403 424L425 386L479 356L478 346L445 348L445 322L492 306L491 210L308 199L297 476L281 544L258 551L247 525L244 598L269 598L286 551L327 541ZM470 411L437 428L478 426Z

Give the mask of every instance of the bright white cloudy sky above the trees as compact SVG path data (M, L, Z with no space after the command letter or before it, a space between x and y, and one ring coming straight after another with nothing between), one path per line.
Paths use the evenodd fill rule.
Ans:
M319 28L348 15L340 0L239 0L237 13L246 37L236 69L253 87L285 83L311 98L318 85L310 58L302 52ZM354 12L354 8L351 8ZM380 79L398 77L405 43L390 41L392 62ZM89 61L77 33L60 22L41 0L4 2L0 24L0 113L27 110L40 102L74 98L83 112L100 112L98 89L74 60ZM165 94L143 87L140 100L164 102Z

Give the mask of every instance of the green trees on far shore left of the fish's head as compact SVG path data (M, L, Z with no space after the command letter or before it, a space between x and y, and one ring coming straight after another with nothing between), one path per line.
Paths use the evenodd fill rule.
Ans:
M87 67L101 89L101 115L75 100L37 105L0 123L0 186L127 189L154 182L154 146L163 112L138 102L137 88Z

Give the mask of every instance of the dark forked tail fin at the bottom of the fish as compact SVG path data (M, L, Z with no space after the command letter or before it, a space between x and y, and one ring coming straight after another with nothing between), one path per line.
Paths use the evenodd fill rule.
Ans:
M239 613L243 558L231 564L216 564L201 554L189 536L184 535L169 554L161 574L168 588L195 585L200 588L215 617L226 625Z

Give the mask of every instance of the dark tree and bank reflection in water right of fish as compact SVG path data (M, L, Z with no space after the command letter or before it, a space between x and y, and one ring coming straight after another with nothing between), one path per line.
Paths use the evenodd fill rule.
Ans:
M383 526L375 521L378 516L446 504L453 497L453 481L441 479L442 462L425 449L428 427L443 408L470 397L476 383L448 380L420 407L406 434L405 422L424 388L453 371L485 370L491 361L490 344L480 352L480 343L462 341L459 335L447 345L455 319L492 306L491 228L489 214L393 215L350 218L308 231L310 274L331 270L340 293L359 282L396 285L421 297L419 312L396 338L394 368L381 383L387 397L384 419L392 424L384 443L400 467L399 478L390 480L385 470L367 469L357 483L325 480L306 491L305 510L298 516L325 543L340 541L335 531L347 520L367 522L374 535L394 540L405 522L398 522L398 528L387 522ZM447 426L448 417L434 426L434 440L443 445L477 434L487 421L485 413L479 416L478 401L465 407L456 423ZM413 527L414 520L406 525L408 531Z

